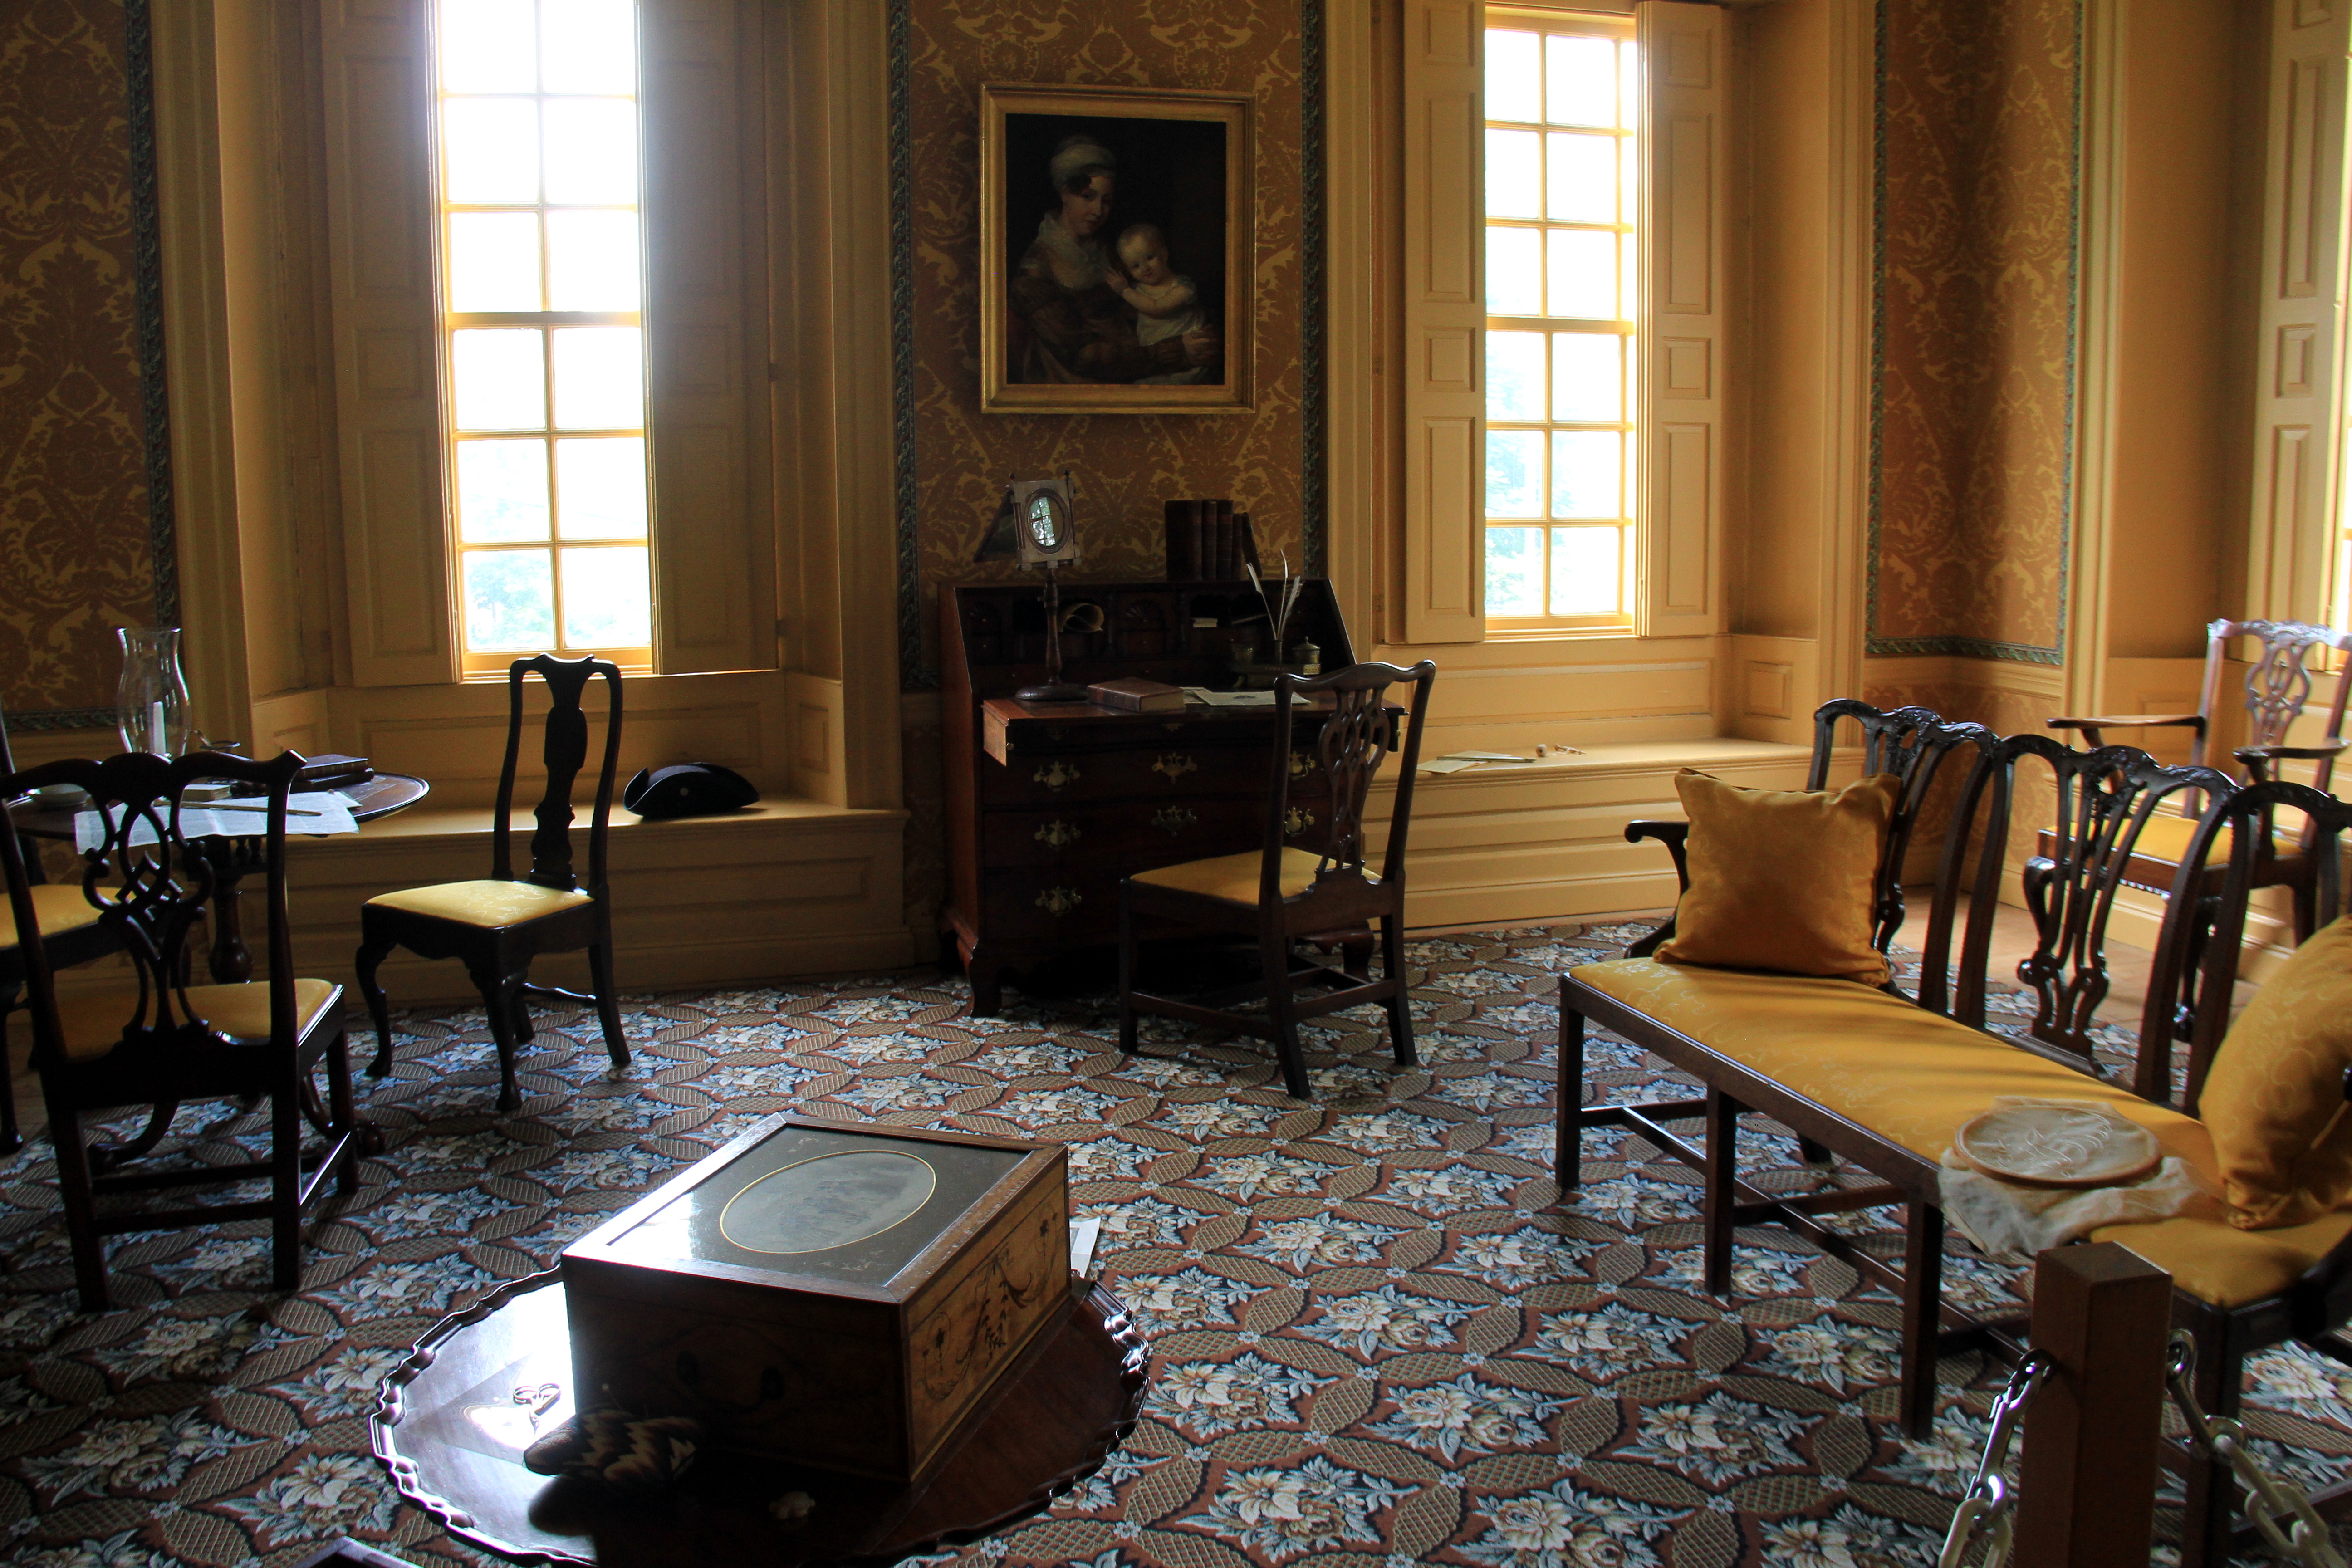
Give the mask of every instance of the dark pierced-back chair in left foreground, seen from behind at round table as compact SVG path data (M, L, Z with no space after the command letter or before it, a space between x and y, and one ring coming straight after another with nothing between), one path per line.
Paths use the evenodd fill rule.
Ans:
M301 1284L301 1211L336 1178L341 1192L358 1187L358 1154L365 1124L350 1098L350 1058L343 1037L343 987L294 976L294 924L287 914L287 795L303 759L285 752L273 762L249 762L221 752L191 752L165 762L146 752L103 762L52 762L0 778L0 802L24 790L73 783L111 811L106 842L87 860L82 884L71 889L99 924L129 952L136 980L96 992L56 994L47 929L38 900L42 889L31 867L7 806L0 804L0 863L7 872L9 914L16 931L42 940L19 945L33 1013L33 1063L49 1110L56 1145L56 1178L73 1244L73 1276L82 1309L106 1309L106 1251L101 1239L122 1232L268 1220L273 1281L280 1291ZM188 985L188 933L212 898L219 844L193 851L179 830L179 792L195 778L233 778L261 788L263 827L254 839L233 839L233 853L256 858L268 884L268 980L242 985ZM148 837L146 844L134 839ZM320 1105L313 1074L327 1063L327 1103ZM268 1100L268 1159L233 1166L181 1166L115 1173L155 1135L134 1145L85 1145L85 1112L155 1105L151 1133L169 1124L183 1100ZM301 1147L303 1121L325 1143ZM303 1173L308 1168L308 1175ZM148 1192L191 1182L268 1178L266 1199L207 1204L167 1211L99 1213L96 1199L113 1192Z

